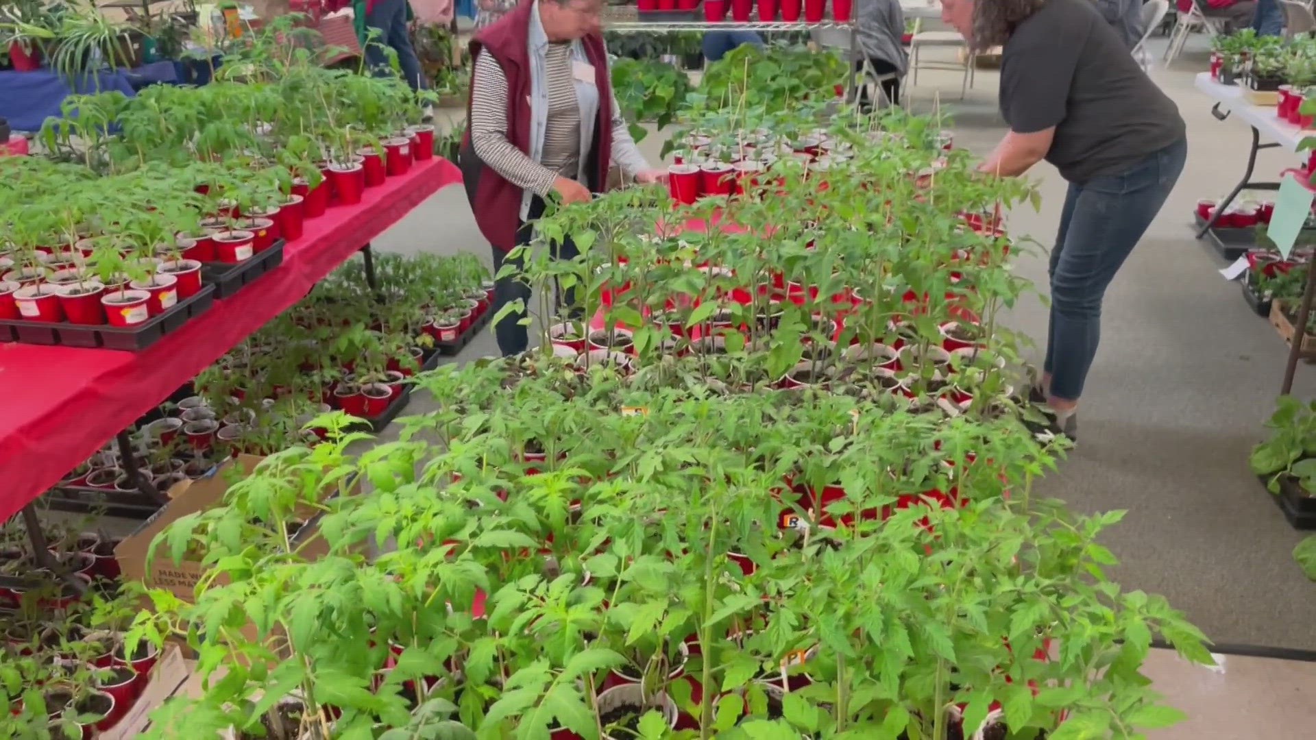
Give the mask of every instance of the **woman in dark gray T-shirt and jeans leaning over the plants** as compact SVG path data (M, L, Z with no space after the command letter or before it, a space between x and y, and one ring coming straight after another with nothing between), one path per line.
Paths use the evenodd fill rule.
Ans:
M1101 298L1183 171L1183 119L1090 0L942 0L941 16L975 50L1003 47L1009 133L982 171L1013 178L1046 159L1070 183L1034 396L1074 437Z

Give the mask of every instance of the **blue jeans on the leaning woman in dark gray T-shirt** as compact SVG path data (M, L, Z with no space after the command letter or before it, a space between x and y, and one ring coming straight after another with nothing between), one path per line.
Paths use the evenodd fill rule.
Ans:
M1183 171L1187 140L1119 175L1070 183L1051 250L1046 362L1051 395L1078 400L1101 338L1101 298Z

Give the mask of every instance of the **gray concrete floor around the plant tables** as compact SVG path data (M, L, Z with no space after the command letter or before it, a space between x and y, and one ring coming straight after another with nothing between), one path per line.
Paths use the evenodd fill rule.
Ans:
M1080 510L1130 510L1108 537L1124 561L1116 578L1166 594L1217 643L1311 649L1316 585L1302 578L1290 557L1299 535L1246 471L1286 350L1248 312L1237 286L1216 273L1224 262L1187 228L1194 203L1228 192L1246 158L1246 129L1212 119L1209 101L1192 87L1192 75L1207 67L1205 50L1205 38L1195 37L1174 67L1152 71L1179 104L1192 154L1161 217L1107 295L1105 342L1084 395L1083 445L1045 487ZM1155 53L1159 58L1159 47ZM979 71L963 101L954 72L921 72L919 82L907 93L912 107L950 112L957 146L984 154L1004 132L995 72ZM642 145L651 161L659 144L651 136ZM1263 151L1257 171L1269 176L1295 163L1294 154ZM1017 209L1009 226L1016 237L1032 236L1049 249L1065 183L1046 165L1033 178L1044 195L1041 211ZM375 245L400 253L488 254L457 187L429 199ZM1045 253L1021 259L1017 270L1045 286ZM1040 302L1025 302L1011 323L1044 337L1046 311ZM496 348L487 334L459 359L490 354ZM1300 367L1295 392L1311 398L1312 390L1309 369ZM415 412L429 406L418 395ZM1205 669L1158 650L1148 674L1191 716L1149 735L1157 740L1296 740L1311 737L1316 726L1316 704L1304 700L1316 690L1316 664L1229 656L1220 668Z

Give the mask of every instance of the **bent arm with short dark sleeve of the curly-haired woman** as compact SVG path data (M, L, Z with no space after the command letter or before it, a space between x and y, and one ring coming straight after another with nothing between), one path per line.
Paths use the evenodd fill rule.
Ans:
M1012 41L1017 42L1007 45L1000 75L1001 115L1009 133L978 167L1003 178L1023 175L1051 150L1055 126L1069 111L1079 53L1062 30Z

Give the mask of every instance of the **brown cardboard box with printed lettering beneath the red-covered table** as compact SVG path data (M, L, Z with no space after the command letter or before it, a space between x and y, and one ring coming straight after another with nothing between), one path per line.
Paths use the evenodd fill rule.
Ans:
M151 541L170 524L188 514L205 511L224 503L229 490L228 471L237 467L243 473L261 462L262 457L242 454L211 471L205 478L182 481L168 490L170 502L142 523L136 532L114 548L114 557L124 578L142 581L151 589L167 589L178 598L191 602L195 598L196 583L205 574L207 566L196 557L184 556L182 562L174 562L168 548L157 548L154 562L146 562ZM308 512L309 515L311 512ZM305 525L293 537L295 544L305 542L301 554L316 560L328 553L328 542L320 536L318 517L308 516Z

